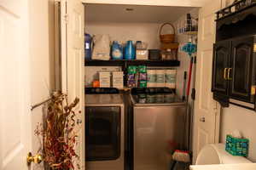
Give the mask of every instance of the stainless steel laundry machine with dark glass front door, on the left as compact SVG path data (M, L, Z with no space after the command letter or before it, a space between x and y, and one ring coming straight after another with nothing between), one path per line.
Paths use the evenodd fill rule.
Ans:
M123 94L111 88L85 90L87 170L124 170L125 107Z

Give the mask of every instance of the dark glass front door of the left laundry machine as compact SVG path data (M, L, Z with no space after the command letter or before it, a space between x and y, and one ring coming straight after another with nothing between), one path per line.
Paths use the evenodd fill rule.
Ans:
M85 107L86 161L116 160L121 146L121 108L119 106Z

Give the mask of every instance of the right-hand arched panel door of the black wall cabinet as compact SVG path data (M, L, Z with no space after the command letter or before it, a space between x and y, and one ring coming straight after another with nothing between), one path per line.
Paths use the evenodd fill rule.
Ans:
M232 41L230 98L253 102L251 97L254 37L242 37Z

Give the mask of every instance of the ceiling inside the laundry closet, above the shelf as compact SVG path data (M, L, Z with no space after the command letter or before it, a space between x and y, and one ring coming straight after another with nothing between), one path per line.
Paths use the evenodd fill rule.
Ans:
M86 4L86 22L174 22L192 7L160 7L143 5Z

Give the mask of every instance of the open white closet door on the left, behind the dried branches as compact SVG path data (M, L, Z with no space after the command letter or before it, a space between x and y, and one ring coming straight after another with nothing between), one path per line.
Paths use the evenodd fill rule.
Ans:
M61 0L61 88L68 101L78 97L76 121L82 122L78 130L77 154L85 168L84 130L84 4L80 0Z

